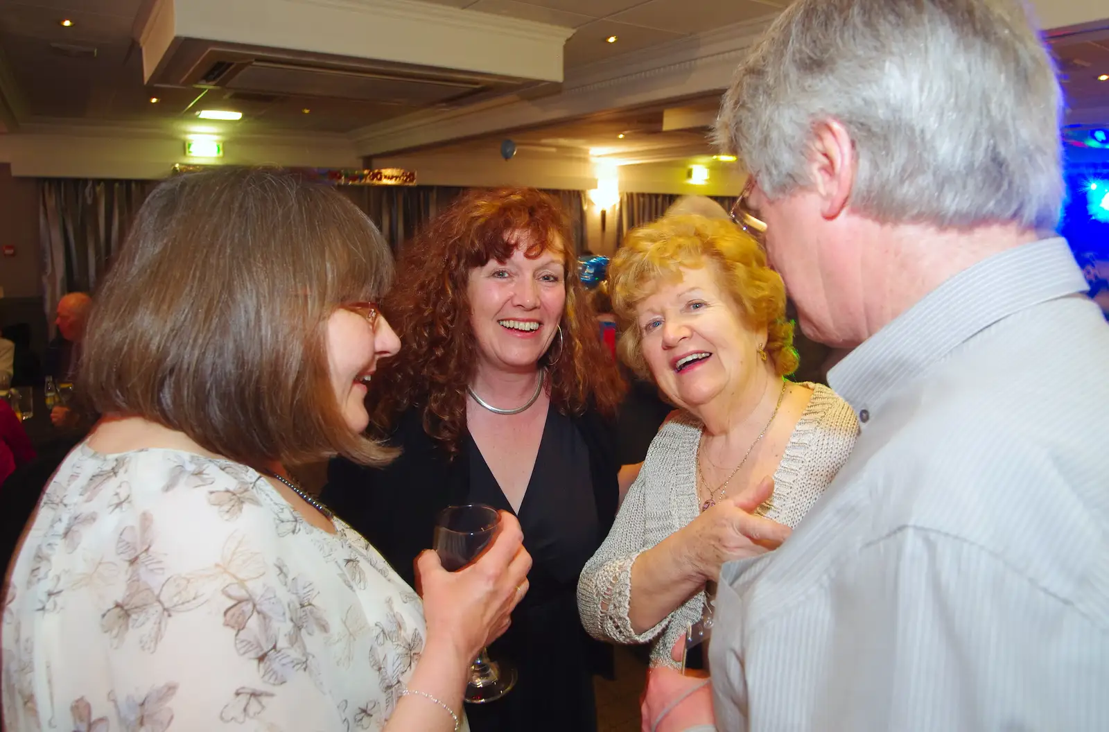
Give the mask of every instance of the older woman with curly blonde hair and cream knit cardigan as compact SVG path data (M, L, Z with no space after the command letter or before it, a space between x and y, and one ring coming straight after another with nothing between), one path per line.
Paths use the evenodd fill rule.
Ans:
M705 583L788 535L847 459L858 424L827 387L783 378L797 366L785 288L734 224L690 215L637 228L610 278L621 356L680 409L586 565L578 607L594 637L654 641L652 665L674 667Z

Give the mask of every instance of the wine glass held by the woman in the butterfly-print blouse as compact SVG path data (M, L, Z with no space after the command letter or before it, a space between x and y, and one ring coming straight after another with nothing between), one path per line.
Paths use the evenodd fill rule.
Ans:
M474 561L489 546L500 518L497 509L485 504L448 506L435 521L433 547L447 571L458 571ZM484 704L496 701L516 685L516 669L489 660L486 649L470 664L466 701Z

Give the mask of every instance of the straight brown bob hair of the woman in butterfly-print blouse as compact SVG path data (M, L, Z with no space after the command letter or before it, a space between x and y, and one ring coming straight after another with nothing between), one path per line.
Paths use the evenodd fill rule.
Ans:
M173 177L146 199L98 291L81 393L253 467L395 455L345 425L327 321L393 277L374 224L276 169Z

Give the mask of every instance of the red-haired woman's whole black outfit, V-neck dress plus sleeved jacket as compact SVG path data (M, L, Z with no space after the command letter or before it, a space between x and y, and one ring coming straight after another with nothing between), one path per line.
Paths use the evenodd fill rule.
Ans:
M415 587L413 562L431 546L440 510L472 500L510 509L472 440L450 455L425 430L421 408L397 418L389 444L401 453L384 467L332 460L322 497ZM619 469L612 419L593 409L549 410L519 511L531 587L490 648L494 659L512 657L520 681L496 702L466 705L476 732L597 729L591 675L611 678L612 648L581 628L576 592L581 568L612 528Z

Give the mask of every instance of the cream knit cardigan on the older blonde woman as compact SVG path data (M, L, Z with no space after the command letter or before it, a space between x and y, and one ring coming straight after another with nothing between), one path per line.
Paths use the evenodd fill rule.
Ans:
M774 472L774 507L765 516L796 526L847 461L858 436L855 413L832 389L806 384L813 396L797 420ZM696 592L654 628L635 633L628 619L631 566L650 549L692 521L700 512L696 451L702 424L688 411L671 415L651 441L639 477L628 490L604 543L578 580L578 610L589 634L617 643L654 640L651 664L676 667L674 642L701 619L704 591ZM602 600L607 606L601 609Z

